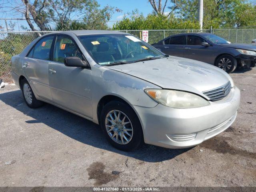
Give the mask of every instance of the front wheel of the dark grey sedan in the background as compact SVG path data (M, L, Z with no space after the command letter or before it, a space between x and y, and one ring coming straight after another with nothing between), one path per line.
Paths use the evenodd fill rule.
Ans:
M215 66L223 69L227 73L233 72L237 67L236 58L231 55L222 55L216 60Z

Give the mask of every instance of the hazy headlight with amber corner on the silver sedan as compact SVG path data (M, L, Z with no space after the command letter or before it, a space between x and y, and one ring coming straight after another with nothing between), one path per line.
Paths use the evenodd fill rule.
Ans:
M194 108L210 104L204 98L184 91L146 89L145 92L156 102L172 108Z

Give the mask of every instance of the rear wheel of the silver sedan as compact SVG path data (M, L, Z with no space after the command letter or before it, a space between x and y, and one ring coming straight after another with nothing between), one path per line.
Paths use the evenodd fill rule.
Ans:
M26 79L22 80L21 90L24 100L30 108L38 108L44 104L44 102L36 99L32 88Z

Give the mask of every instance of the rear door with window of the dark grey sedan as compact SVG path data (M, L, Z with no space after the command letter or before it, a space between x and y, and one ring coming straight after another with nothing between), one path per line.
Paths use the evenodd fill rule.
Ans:
M172 36L163 42L162 52L172 56L184 57L186 35Z

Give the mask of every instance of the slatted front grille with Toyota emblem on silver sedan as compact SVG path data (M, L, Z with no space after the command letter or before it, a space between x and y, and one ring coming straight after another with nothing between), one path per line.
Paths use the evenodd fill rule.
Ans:
M229 94L230 90L231 90L231 83L230 81L228 81L228 83L216 89L204 91L203 94L208 96L210 100L217 101L225 98Z

